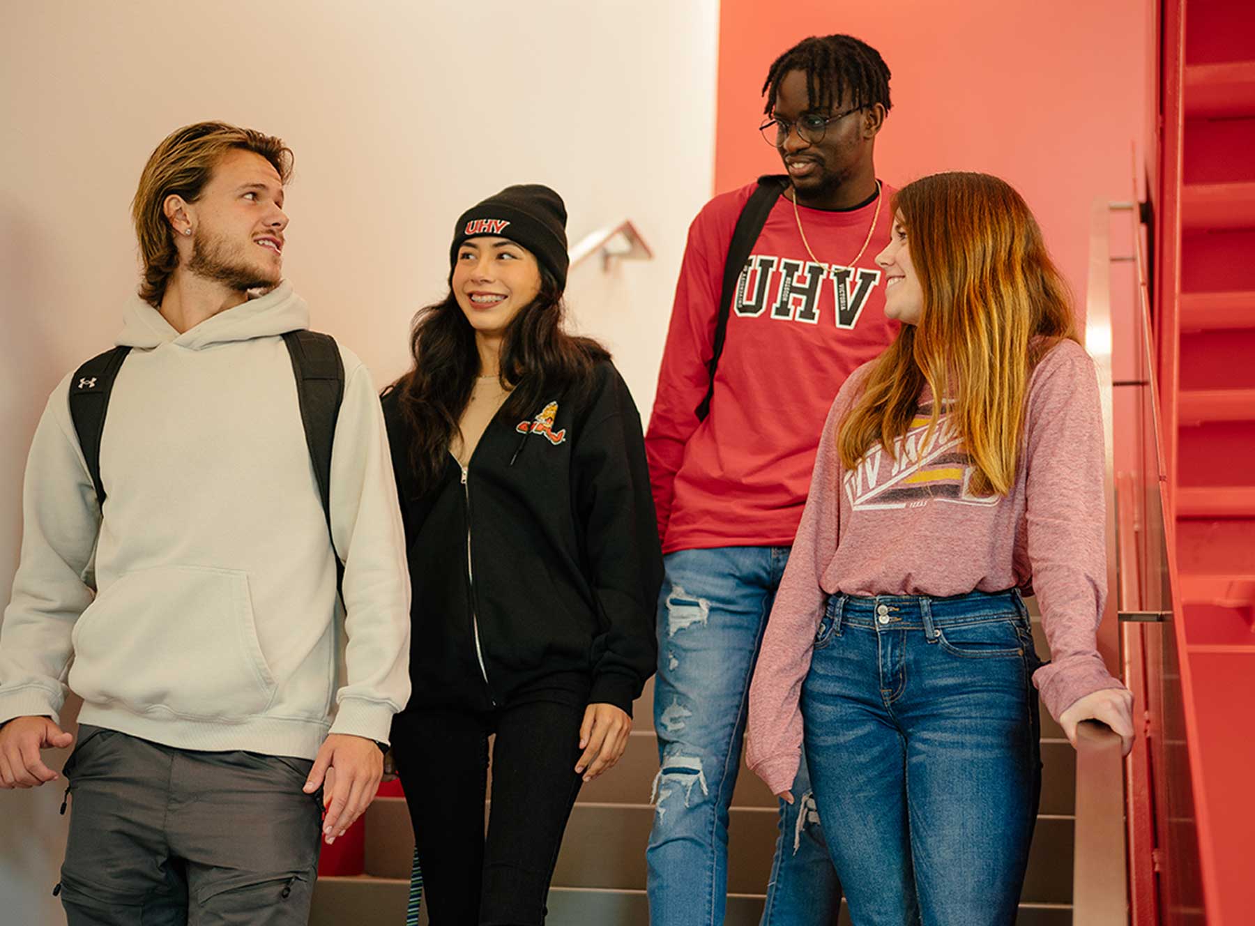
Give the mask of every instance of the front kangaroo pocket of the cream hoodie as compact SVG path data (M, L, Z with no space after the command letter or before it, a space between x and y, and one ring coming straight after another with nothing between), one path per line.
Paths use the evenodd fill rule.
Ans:
M74 625L69 685L137 713L232 721L266 709L275 680L247 573L202 566L127 572Z

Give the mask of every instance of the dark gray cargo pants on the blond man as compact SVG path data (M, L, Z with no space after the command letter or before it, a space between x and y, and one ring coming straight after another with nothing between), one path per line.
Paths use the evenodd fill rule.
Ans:
M69 926L304 926L323 809L301 790L311 765L80 726L65 763Z

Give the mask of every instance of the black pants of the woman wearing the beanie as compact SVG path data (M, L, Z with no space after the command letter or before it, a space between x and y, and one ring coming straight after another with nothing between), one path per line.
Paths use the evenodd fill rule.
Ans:
M408 710L393 755L430 926L540 926L562 831L580 792L584 705L530 701L492 714ZM492 749L492 809L483 801Z

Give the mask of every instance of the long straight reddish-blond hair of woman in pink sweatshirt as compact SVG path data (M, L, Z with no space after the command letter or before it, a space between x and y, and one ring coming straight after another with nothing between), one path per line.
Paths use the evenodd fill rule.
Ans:
M971 459L971 491L1005 496L1015 483L1033 368L1060 340L1081 340L1067 285L1028 205L996 177L924 177L897 191L892 211L906 230L924 305L837 425L841 462L853 469L876 443L892 457L927 385L932 415L920 447L945 410Z

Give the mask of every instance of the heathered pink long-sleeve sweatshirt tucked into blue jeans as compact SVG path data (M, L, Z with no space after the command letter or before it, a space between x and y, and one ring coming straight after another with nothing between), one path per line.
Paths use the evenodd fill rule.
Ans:
M798 698L830 595L943 597L1032 587L1053 657L1033 681L1052 716L1092 691L1122 688L1094 644L1107 552L1102 415L1089 355L1062 341L1034 369L1015 483L1005 497L970 492L973 467L945 415L921 448L927 396L896 459L877 444L847 472L836 429L870 366L855 370L828 412L749 689L747 760L777 794L797 774Z

